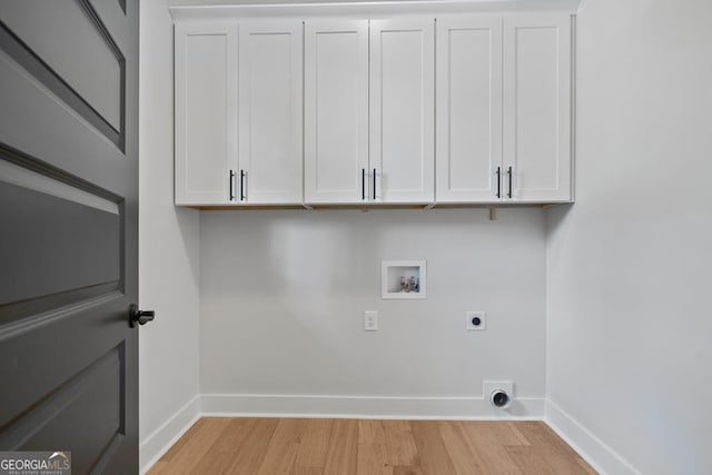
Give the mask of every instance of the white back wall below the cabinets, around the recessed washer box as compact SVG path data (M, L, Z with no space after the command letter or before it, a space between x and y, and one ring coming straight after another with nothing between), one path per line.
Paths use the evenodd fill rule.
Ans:
M483 379L504 378L542 403L515 414L543 416L544 216L504 209L498 218L485 209L204 211L204 394L425 399L208 397L206 407L487 415L485 404L428 398L481 397ZM427 259L427 299L382 300L382 259ZM364 331L368 309L379 311L376 333ZM486 310L487 329L466 331L466 310Z

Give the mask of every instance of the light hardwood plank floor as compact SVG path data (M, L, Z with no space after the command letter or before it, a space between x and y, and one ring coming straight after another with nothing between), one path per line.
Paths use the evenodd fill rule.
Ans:
M595 474L541 422L199 419L149 474Z

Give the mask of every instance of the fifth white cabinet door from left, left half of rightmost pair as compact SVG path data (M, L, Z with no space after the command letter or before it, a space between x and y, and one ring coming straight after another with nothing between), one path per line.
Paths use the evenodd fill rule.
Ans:
M497 201L502 196L502 18L438 18L436 43L436 199Z

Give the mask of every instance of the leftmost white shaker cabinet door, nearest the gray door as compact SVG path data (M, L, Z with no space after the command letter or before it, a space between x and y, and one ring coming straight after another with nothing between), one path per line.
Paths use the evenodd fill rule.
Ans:
M237 169L237 23L177 23L176 205L229 204Z

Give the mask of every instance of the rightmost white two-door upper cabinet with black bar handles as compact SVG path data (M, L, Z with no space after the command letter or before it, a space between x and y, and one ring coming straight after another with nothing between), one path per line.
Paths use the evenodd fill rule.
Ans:
M443 17L437 34L437 201L571 200L571 17Z

